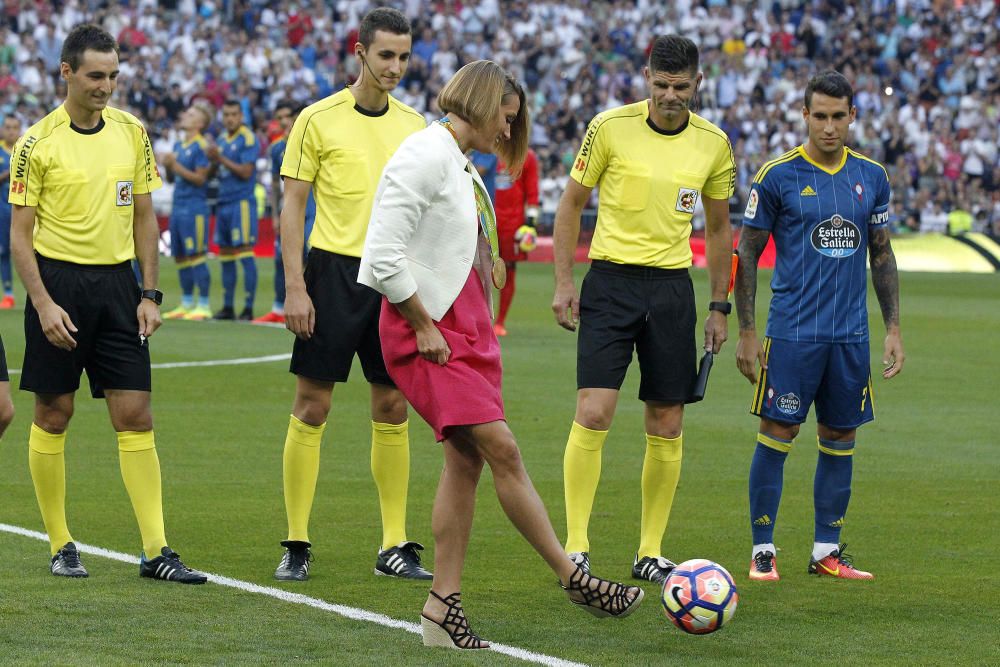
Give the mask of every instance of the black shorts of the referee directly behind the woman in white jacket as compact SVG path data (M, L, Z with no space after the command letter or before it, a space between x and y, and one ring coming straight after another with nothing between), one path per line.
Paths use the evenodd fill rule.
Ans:
M316 309L312 338L295 338L289 370L320 382L346 382L354 355L365 379L395 387L382 358L378 317L382 295L358 282L361 259L312 248L306 292Z

